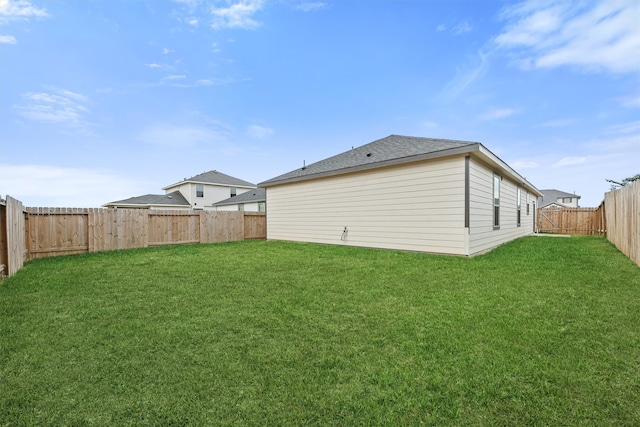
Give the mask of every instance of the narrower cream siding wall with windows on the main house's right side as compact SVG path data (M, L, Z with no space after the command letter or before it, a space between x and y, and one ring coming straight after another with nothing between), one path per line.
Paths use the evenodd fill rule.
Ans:
M500 227L493 227L494 170L472 158L469 165L469 255L492 249L502 243L532 234L534 231L535 195L521 186L521 225L517 225L516 194L518 184L505 174L500 182ZM527 214L527 203L529 214Z

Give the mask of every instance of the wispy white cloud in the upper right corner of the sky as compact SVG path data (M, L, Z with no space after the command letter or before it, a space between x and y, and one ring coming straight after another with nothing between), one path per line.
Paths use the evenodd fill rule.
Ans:
M501 15L504 30L494 39L523 68L575 67L589 72L640 71L640 3L527 0Z

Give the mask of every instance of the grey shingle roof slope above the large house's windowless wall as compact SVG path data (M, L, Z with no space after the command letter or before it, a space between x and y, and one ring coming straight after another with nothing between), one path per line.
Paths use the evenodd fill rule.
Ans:
M417 161L427 158L473 151L480 144L470 141L390 135L369 144L353 148L328 159L293 170L261 182L260 186L281 184L355 170Z

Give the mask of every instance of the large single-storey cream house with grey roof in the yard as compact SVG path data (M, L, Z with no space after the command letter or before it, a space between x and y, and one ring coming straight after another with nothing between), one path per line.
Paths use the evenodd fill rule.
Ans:
M258 185L267 239L466 256L533 233L542 196L478 142L400 135Z

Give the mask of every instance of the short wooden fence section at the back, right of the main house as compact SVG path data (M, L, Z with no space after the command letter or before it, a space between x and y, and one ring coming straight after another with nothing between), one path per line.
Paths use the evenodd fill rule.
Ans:
M606 234L605 204L598 208L539 208L537 230L540 233Z

